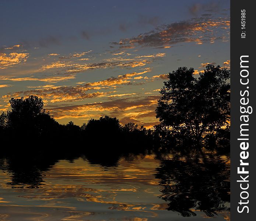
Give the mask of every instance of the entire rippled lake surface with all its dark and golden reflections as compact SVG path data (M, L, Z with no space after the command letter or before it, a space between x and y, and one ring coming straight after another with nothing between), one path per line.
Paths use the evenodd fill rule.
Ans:
M45 160L47 161L47 160ZM203 151L0 159L0 221L230 220L229 156Z

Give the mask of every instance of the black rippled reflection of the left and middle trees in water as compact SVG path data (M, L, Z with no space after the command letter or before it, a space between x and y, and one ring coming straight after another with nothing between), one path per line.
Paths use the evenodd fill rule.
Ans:
M70 147L63 150L70 150ZM102 141L100 145L90 146L87 150L80 151L78 154L71 152L63 154L53 151L32 150L28 147L26 152L16 151L15 155L0 157L0 169L11 173L11 185L13 188L40 188L44 181L44 172L49 171L61 159L74 163L74 159L81 157L90 164L105 167L118 166L121 157L130 155L129 151L121 148L120 143ZM135 151L134 151L135 152ZM139 148L135 154L141 154Z

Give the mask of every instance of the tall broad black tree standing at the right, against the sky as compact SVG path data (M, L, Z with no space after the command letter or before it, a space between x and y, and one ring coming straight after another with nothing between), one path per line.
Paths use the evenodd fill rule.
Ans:
M230 70L208 64L199 75L179 67L168 74L156 116L172 133L200 142L216 134L230 120Z

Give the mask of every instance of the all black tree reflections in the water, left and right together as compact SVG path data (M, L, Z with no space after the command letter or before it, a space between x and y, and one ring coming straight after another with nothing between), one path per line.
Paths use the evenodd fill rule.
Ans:
M144 156L143 152L138 154L140 151L124 154L118 145L113 148L115 151L110 151L107 145L100 147L69 157L49 157L49 154L39 153L37 157L17 154L19 157L0 158L0 169L11 173L11 182L7 184L13 188L39 188L45 182L44 172L60 159L73 163L74 159L81 157L90 164L109 167L118 166L120 158L136 161L138 156ZM229 163L226 164L225 160L215 154L199 151L194 154L175 153L171 159L168 156L158 153L156 158L160 159L161 164L155 175L164 186L159 197L168 202L168 210L179 212L184 217L195 216L194 210L204 211L208 217L213 217L218 211L229 211Z

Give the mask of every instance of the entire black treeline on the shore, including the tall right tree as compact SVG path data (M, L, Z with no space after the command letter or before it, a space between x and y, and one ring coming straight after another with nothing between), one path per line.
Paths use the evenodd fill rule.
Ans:
M160 124L152 129L134 123L120 124L116 117L91 119L83 126L59 124L43 109L41 98L12 98L11 111L0 115L2 143L46 146L106 145L112 149L151 150L169 147L229 148L230 70L208 64L197 76L179 67L168 74L155 110Z

